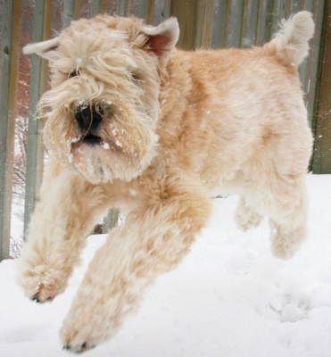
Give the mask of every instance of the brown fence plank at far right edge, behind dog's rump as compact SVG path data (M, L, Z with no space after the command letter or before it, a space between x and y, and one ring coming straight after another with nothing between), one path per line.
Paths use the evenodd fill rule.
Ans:
M331 173L331 2L324 8L313 173Z

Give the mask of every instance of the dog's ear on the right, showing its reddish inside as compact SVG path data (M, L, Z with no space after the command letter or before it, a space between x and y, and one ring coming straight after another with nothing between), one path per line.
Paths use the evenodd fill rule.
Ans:
M153 52L167 61L170 50L174 48L179 38L179 26L175 17L162 22L159 26L144 26L143 32L148 37L147 44Z

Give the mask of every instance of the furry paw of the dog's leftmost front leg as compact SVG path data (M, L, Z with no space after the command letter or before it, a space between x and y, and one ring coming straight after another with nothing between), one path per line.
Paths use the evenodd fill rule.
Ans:
M46 265L21 270L18 280L25 294L37 303L51 302L67 285L63 271L46 269Z

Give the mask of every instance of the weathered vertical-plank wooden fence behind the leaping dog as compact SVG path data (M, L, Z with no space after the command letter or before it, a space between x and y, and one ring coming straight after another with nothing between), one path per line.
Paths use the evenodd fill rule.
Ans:
M331 173L331 4L327 0L0 0L0 260L9 256L12 204L12 162L18 68L21 55L21 19L34 3L32 42L52 37L79 17L99 12L120 16L134 14L157 25L170 16L178 17L178 46L198 47L261 46L277 31L278 22L292 13L313 12L316 34L310 57L302 64L302 89L315 134L313 173ZM59 13L55 18L56 13ZM61 16L59 26L59 16ZM56 20L57 19L57 20ZM59 28L60 27L60 28ZM47 87L46 62L31 57L29 93L29 135L26 170L25 227L37 201L43 166L44 123L34 118L39 96Z

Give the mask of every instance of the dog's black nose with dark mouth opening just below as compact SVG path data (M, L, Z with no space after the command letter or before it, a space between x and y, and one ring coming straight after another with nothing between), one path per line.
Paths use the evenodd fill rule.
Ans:
M83 141L87 144L99 144L100 137L97 133L100 124L103 121L103 109L97 104L90 104L75 113L75 120L79 125L79 129L84 135Z

